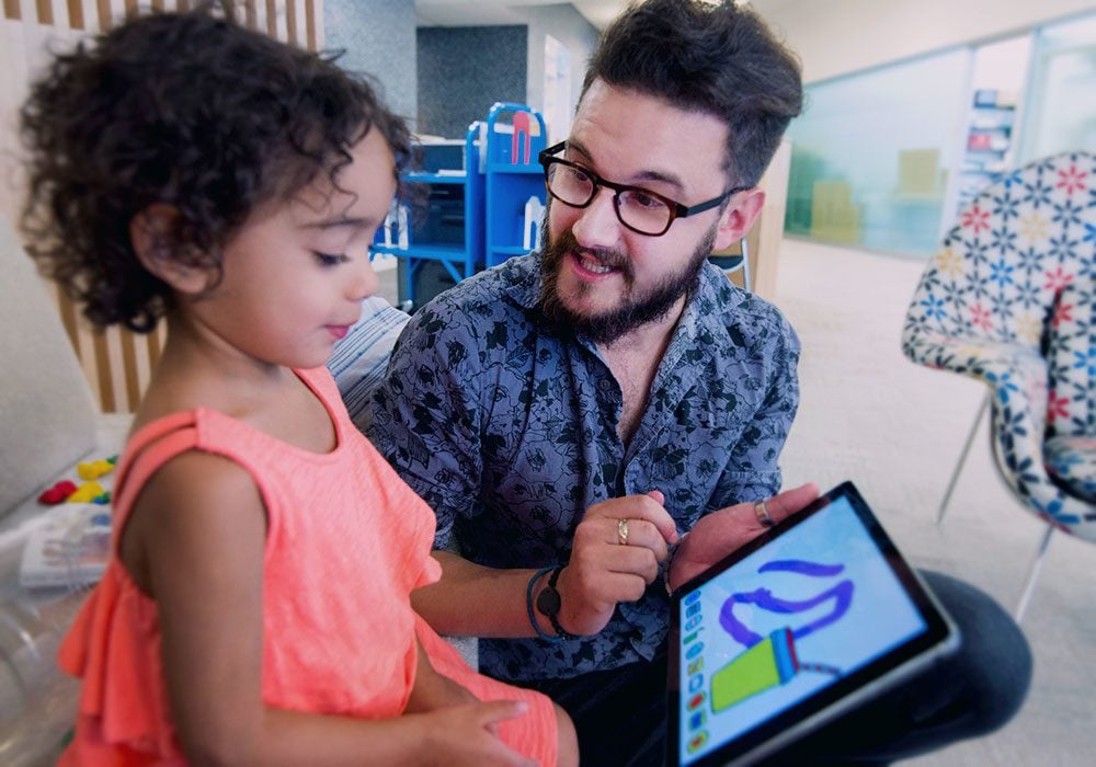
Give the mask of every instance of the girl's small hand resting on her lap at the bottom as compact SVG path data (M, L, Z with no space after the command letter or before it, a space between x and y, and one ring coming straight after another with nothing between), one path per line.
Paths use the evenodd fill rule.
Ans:
M466 703L422 714L426 733L424 754L432 765L537 767L537 763L499 740L498 723L523 716L528 706L517 700Z

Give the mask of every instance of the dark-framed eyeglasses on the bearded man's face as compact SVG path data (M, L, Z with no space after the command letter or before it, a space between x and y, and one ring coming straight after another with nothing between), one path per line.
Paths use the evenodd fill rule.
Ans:
M620 224L640 234L651 237L665 234L675 218L687 218L710 210L735 192L750 188L749 186L734 186L718 197L686 207L675 199L644 190L642 186L629 186L606 181L589 168L560 157L552 157L566 147L567 141L560 141L553 147L548 147L538 156L540 164L545 168L545 184L548 186L548 194L572 208L584 208L593 202L600 187L610 188L615 192L613 207Z

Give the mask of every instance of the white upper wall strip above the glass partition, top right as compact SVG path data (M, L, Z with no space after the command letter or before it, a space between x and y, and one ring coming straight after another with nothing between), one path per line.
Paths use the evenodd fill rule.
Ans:
M1026 32L1093 10L1093 0L807 0L758 2L803 61L803 79Z

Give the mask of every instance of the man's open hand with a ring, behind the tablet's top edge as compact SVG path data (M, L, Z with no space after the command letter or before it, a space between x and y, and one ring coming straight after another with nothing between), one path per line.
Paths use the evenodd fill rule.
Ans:
M813 482L786 490L765 502L774 523L783 522L802 511L819 496ZM727 554L765 531L753 503L740 503L720 508L701 518L674 554L670 568L670 588L675 589L703 573Z

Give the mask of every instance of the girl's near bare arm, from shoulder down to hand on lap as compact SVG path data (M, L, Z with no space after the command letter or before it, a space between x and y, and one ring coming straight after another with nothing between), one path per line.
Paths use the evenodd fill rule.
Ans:
M527 764L491 732L493 722L520 716L521 703L472 702L378 721L264 706L265 534L251 477L196 451L152 477L123 530L123 561L157 603L171 717L191 764ZM416 685L416 706L463 700L429 661L423 667L427 686Z

